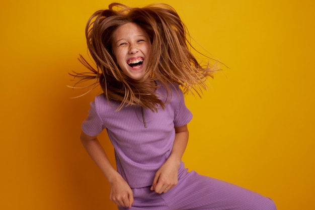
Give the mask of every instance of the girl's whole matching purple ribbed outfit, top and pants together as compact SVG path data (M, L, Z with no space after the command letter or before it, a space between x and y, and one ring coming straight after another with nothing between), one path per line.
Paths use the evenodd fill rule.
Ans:
M156 89L166 100L166 89ZM174 127L192 119L186 108L183 92L177 84L171 89L172 99L158 112L139 106L115 110L120 103L101 94L91 102L84 133L97 136L103 129L115 149L117 171L133 190L131 209L276 209L272 200L244 188L222 182L179 167L179 183L167 193L150 191L156 171L169 157L175 138ZM119 206L119 209L127 209Z

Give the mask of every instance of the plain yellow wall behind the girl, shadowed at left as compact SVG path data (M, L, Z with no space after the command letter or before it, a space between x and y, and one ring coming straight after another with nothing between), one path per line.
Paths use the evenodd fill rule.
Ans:
M130 6L154 1L121 0ZM313 1L165 1L229 68L194 113L186 166L311 209L314 183ZM109 185L78 137L93 94L66 87L83 71L84 28L109 1L2 1L0 209L113 209ZM112 147L104 146L113 161Z

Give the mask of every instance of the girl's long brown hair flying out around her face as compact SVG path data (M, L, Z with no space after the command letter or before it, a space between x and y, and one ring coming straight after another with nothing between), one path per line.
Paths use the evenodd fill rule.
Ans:
M112 53L113 32L121 25L135 23L146 31L151 42L151 56L144 78L134 80L126 76L117 65ZM177 12L169 5L154 4L143 8L130 8L112 3L109 9L95 12L86 26L89 52L96 64L93 68L80 56L79 60L90 72L75 73L78 83L90 79L99 82L107 99L120 101L123 106L136 104L156 111L156 104L163 108L156 94L159 81L170 92L171 85L177 83L184 92L192 91L200 95L206 88L204 81L212 77L216 67L201 66L190 49L188 31ZM167 95L169 99L171 95Z

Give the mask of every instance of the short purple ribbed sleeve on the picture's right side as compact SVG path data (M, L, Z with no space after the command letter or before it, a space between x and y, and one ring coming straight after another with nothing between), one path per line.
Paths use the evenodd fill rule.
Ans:
M186 107L184 94L183 94L183 91L179 88L179 86L177 86L177 91L178 91L179 97L176 97L178 101L177 101L177 108L176 108L175 117L174 117L174 126L181 127L189 123L193 115Z

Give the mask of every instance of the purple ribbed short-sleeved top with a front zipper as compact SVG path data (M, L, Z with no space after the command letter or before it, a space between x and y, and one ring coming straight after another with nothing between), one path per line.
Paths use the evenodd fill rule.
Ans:
M166 89L156 89L160 99L165 100ZM117 171L131 188L150 186L156 171L169 157L175 138L174 127L184 126L192 119L186 108L184 95L177 84L172 87L172 99L165 109L158 112L139 106L126 106L120 111L119 102L107 100L104 94L95 97L82 130L89 136L97 136L107 130L115 149ZM144 126L146 125L146 128ZM186 171L183 162L179 174Z

